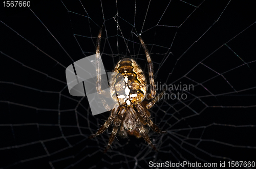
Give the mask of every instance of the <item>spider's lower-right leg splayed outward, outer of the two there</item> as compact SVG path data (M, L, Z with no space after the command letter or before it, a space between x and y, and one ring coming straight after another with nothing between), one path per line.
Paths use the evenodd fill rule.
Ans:
M150 128L152 128L155 132L157 133L165 133L166 131L161 131L156 125L155 123L152 122L152 120L150 119L150 117L148 117L146 115L146 111L145 109L142 107L142 105L139 103L137 105L135 105L135 107L137 108L138 112L139 112L139 116L143 118L143 120L147 123L148 126L150 126Z

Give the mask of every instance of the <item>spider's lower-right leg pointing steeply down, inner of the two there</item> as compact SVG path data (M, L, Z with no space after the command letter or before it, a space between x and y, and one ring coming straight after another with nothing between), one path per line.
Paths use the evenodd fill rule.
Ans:
M154 149L157 150L156 147L152 144L150 137L148 137L146 130L143 127L143 124L140 122L139 117L137 116L136 111L134 110L134 108L132 106L128 106L127 107L128 110L134 114L134 116L136 117L135 121L138 124L138 128L140 131L141 136L145 139L145 141Z

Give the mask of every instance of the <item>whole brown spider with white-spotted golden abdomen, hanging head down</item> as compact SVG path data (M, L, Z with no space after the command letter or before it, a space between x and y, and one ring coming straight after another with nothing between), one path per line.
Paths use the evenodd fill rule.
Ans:
M100 75L100 40L101 40L102 28L99 31L96 42L96 89L99 95L105 95L105 91L101 90L101 75ZM156 86L153 74L153 63L150 58L150 54L142 40L141 36L138 36L140 43L144 49L147 68L150 78L151 93L147 94L146 79L143 71L133 59L121 59L114 68L114 73L110 80L110 94L115 101L114 108L111 111L111 115L108 120L101 126L101 128L90 136L90 138L96 137L105 131L113 122L113 130L109 138L108 146L104 150L104 153L111 147L116 134L125 138L127 134L135 135L137 138L143 137L145 141L157 151L156 147L152 144L150 137L147 135L147 129L144 127L148 125L157 133L165 133L161 131L150 119L150 109L162 96L164 91L156 95ZM120 80L124 78L124 80ZM146 98L147 95L147 98ZM148 98L149 95L149 98ZM148 103L148 101L150 101ZM103 105L106 103L102 99ZM109 105L104 105L106 109L111 110ZM118 131L119 129L119 131Z

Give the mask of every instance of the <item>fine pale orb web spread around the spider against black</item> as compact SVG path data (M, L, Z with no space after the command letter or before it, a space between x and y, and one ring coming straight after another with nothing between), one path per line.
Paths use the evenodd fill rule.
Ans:
M255 157L255 21L253 6L233 1L36 1L1 9L0 129L3 168L148 168L153 162L253 161ZM147 74L150 51L158 86L194 85L185 100L150 109L166 134L117 136L109 117L92 116L86 97L69 94L65 69L95 53L103 24L102 61L111 72L132 57ZM147 78L148 79L148 78ZM158 90L160 92L160 89Z

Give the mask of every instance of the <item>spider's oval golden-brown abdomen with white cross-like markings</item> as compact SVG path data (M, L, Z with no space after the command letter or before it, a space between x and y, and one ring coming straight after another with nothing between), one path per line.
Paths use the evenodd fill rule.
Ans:
M122 59L112 75L111 97L120 105L127 106L142 102L146 95L146 79L141 68L133 59Z

